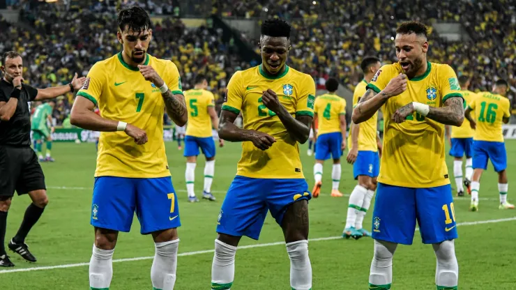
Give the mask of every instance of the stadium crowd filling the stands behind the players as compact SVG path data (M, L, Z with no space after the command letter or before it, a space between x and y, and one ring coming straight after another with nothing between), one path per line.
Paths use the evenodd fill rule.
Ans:
M47 87L68 82L75 72L86 75L93 63L115 54L115 5L137 1L109 1L109 5L107 1L79 1L80 5L71 1L72 6L47 3L43 7L30 2L22 1L21 15L33 30L0 22L6 31L0 34L0 52L15 49L22 53L25 78L34 86ZM193 77L204 73L209 77L209 89L222 100L234 71L250 67L241 61L234 43L222 41L222 31L206 26L186 29L179 17L174 17L179 15L177 11L174 14L174 7L179 7L174 1L139 2L155 14L172 15L155 23L149 52L176 63L183 89L190 89ZM384 63L395 61L393 36L400 20L460 22L471 40L449 42L431 33L430 61L448 63L457 75L471 76L470 89L477 91L490 90L496 77L508 79L509 97L513 107L516 105L514 1L446 0L435 6L419 0L213 0L212 12L222 17L286 18L294 28L289 66L312 75L321 88L328 77L337 77L351 90L361 80L358 64L363 56L376 55ZM54 114L57 123L68 115L73 98L70 94L59 101Z

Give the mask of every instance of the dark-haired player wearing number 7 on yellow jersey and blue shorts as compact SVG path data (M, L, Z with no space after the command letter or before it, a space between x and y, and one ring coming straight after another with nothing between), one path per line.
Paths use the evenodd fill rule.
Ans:
M119 231L130 230L136 211L140 232L151 234L155 243L153 289L172 290L181 222L163 143L163 114L166 108L178 125L188 120L181 77L172 61L146 53L153 31L145 10L121 10L118 24L123 51L93 65L70 116L73 125L100 131L90 287L109 289ZM100 116L93 112L96 104Z

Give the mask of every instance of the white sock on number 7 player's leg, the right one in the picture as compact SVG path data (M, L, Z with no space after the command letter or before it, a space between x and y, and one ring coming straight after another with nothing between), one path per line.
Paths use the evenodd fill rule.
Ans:
M176 283L179 238L174 241L154 243L154 245L155 254L151 267L152 287L155 290L173 290Z

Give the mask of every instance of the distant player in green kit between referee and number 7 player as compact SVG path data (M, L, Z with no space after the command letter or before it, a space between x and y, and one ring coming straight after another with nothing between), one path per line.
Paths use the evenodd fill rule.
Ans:
M52 150L52 135L54 132L54 126L52 125L52 111L55 106L54 101L45 102L36 107L36 111L32 115L31 130L33 132L33 139L36 141L36 152L38 153L38 159L40 162L50 161L54 162L54 158L51 157L50 151ZM52 125L50 130L48 129L47 123L50 122ZM43 158L43 139L47 142L47 157Z

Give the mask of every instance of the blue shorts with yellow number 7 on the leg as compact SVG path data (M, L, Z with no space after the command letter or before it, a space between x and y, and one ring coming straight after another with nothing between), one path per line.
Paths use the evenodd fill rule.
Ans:
M128 232L135 211L142 234L181 227L172 179L95 178L91 206L93 227Z

